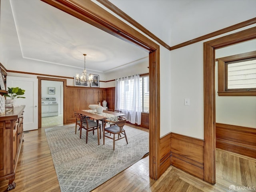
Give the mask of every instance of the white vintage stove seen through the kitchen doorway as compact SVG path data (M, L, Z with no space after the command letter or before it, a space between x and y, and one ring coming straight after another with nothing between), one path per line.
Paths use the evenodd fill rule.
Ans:
M42 98L41 99L41 116L50 117L58 116L59 104L56 98Z

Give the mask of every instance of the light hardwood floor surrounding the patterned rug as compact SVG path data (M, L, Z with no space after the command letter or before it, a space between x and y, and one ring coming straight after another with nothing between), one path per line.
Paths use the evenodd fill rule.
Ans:
M16 188L12 192L60 192L44 129L24 134L16 170ZM215 185L173 166L154 181L148 176L148 161L147 156L92 192L226 192L230 191L230 185L256 191L256 159L216 150ZM8 180L0 181L0 192L6 190L7 185Z

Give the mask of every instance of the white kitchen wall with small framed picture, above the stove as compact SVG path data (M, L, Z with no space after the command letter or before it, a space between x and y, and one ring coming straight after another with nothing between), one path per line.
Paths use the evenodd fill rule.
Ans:
M48 87L55 87L55 94L48 94ZM63 82L42 80L41 98L56 98L58 113L63 114Z

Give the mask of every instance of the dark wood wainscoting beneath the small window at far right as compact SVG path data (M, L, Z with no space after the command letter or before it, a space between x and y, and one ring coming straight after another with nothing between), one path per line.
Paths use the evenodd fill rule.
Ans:
M256 157L256 128L216 123L216 148Z

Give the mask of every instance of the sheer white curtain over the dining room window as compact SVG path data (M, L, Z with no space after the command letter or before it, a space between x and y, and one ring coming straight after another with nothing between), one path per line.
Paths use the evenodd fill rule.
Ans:
M140 75L116 79L115 109L122 110L129 122L140 125Z

